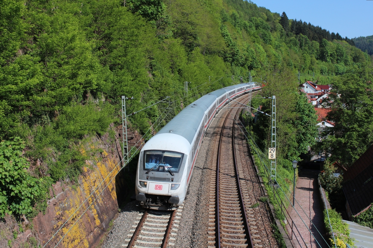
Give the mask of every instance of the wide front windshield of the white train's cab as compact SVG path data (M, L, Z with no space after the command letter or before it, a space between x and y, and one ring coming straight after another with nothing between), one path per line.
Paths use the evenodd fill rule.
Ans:
M171 174L179 171L183 154L170 151L145 151L144 170L169 172Z

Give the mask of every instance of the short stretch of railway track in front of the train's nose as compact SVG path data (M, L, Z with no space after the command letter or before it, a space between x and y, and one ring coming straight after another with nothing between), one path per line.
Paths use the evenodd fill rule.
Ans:
M133 228L125 239L128 244L122 244L122 247L128 248L167 248L175 245L176 227L179 225L182 206L173 211L147 210L139 213L138 220L132 225Z

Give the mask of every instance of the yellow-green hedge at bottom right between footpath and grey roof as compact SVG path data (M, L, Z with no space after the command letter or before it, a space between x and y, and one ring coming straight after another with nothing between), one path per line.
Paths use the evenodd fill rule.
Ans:
M334 209L328 209L328 213L326 210L324 210L324 224L325 230L329 234L330 247L334 246L335 244L338 248L346 248L346 244L349 244L351 247L355 247L355 239L350 238L350 229L348 229L348 224L346 222L342 222L342 216L340 213L336 212ZM332 225L333 228L335 242L332 236L330 225Z

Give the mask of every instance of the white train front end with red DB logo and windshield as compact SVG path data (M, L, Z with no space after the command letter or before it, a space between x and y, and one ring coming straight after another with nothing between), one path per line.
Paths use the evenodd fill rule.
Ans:
M173 133L154 135L141 149L136 200L150 209L174 210L186 194L189 142Z

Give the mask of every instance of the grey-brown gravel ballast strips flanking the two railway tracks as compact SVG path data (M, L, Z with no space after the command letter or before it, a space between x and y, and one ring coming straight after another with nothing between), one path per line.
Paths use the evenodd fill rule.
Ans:
M221 125L224 122L227 110L222 109L210 124L209 129L203 138L203 142L199 149L198 157L195 163L194 171L189 184L189 194L184 201L184 207L177 227L175 245L168 245L169 248L186 248L186 247L207 247L208 241L208 226L209 226L209 202L210 202L210 182L211 182L211 168L213 164L213 157L216 154ZM241 136L242 137L242 136ZM241 144L240 154L243 160L248 159L247 144L245 139L237 141ZM256 199L262 196L260 185L253 170L252 165L248 162L244 168L245 179L248 182L248 187L252 190L251 196ZM272 237L271 220L269 218L269 209L265 204L260 203L260 206L254 209L256 215L261 215L260 233L265 242L264 247L277 248L278 244ZM103 248L122 247L130 233L130 229L135 225L135 220L144 210L140 206L136 206L137 202L128 203L123 207L113 222L112 229L107 233L104 239Z

